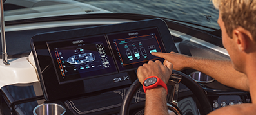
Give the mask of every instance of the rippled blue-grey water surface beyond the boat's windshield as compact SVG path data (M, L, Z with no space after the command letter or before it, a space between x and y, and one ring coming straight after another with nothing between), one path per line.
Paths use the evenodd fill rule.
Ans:
M79 0L113 13L137 13L177 19L219 29L210 0Z

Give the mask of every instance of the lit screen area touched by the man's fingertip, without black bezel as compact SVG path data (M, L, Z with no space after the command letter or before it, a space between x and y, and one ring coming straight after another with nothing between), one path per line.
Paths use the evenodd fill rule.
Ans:
M114 39L115 47L123 66L152 60L152 52L162 52L155 33L125 39ZM146 48L145 48L146 47Z

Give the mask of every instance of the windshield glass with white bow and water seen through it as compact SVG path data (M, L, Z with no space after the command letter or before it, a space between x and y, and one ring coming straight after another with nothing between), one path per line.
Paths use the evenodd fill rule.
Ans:
M6 21L87 13L135 13L219 29L218 11L210 0L6 0L4 9Z

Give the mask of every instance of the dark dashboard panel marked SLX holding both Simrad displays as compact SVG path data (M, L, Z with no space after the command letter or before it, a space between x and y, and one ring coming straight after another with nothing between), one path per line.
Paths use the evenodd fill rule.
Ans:
M41 33L30 43L48 101L130 85L137 67L163 61L152 51L177 52L161 19Z

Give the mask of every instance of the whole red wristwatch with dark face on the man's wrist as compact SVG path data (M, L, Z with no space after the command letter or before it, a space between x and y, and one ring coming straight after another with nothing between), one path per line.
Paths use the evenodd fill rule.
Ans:
M162 87L164 87L164 89L166 89L166 93L168 93L167 85L164 83L164 81L162 81L157 76L150 76L144 80L143 82L144 92L146 93L146 89L153 89L158 85L161 85Z

